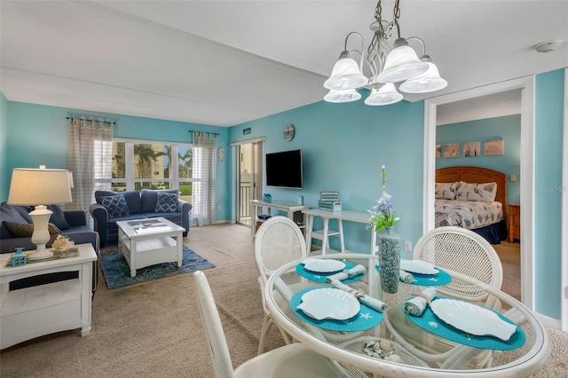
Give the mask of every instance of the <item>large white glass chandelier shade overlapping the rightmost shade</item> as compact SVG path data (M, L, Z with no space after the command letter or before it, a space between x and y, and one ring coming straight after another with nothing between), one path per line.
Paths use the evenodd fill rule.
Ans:
M401 45L390 51L377 80L380 83L398 83L423 74L427 69L428 64L418 59L412 47Z

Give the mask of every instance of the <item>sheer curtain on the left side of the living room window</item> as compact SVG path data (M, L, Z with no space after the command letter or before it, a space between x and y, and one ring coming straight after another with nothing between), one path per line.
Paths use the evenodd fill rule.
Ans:
M67 169L73 172L73 202L66 209L87 210L96 190L110 190L114 122L68 118ZM91 220L91 217L88 217Z

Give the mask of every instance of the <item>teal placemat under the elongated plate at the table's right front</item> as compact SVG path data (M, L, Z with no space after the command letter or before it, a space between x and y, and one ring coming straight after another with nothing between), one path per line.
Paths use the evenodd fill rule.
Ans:
M443 296L437 296L435 299L439 298L443 298ZM506 322L515 324L512 320L504 317L499 312L493 312L495 312L501 319L505 320ZM465 332L461 331L461 329L450 326L444 320L439 319L436 314L434 314L432 309L430 309L430 306L426 307L426 310L422 313L422 316L412 316L406 312L405 314L406 318L412 320L412 322L418 327L421 327L434 335L444 337L445 339L451 340L455 343L461 343L475 348L488 350L514 350L522 347L526 341L525 332L523 332L520 327L517 327L517 330L513 335L511 335L508 341L503 341L500 338L494 336L477 336L466 334Z

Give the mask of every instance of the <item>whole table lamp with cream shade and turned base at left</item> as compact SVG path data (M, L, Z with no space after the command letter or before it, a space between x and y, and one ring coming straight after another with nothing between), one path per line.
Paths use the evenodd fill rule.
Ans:
M12 171L12 183L8 203L12 205L35 206L29 213L34 223L32 243L36 244L36 252L29 255L29 260L43 260L53 256L45 248L50 240L48 223L53 212L46 205L71 202L71 182L67 169L15 168Z

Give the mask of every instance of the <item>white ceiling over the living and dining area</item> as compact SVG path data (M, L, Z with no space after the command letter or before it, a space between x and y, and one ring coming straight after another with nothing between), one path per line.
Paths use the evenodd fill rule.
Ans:
M568 67L568 1L400 3L401 35L422 37L449 83L430 97ZM11 101L233 126L320 101L345 36L370 42L375 4L2 0L0 91ZM383 19L393 4L383 2ZM555 39L559 50L534 51Z

